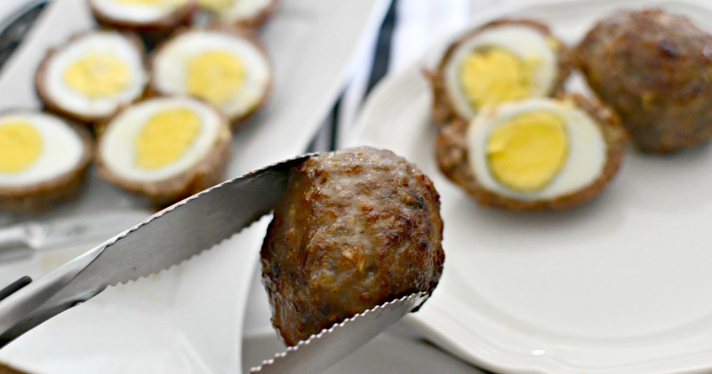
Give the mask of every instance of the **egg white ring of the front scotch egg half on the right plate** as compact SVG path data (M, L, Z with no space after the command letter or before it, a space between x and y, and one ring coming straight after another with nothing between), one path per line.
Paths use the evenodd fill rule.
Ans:
M498 124L534 111L551 113L565 121L569 148L564 165L548 185L537 191L522 192L501 184L491 175L487 141ZM468 161L483 188L525 201L553 199L582 189L601 175L607 160L606 141L595 120L573 103L549 98L530 98L481 110L468 126L467 146Z

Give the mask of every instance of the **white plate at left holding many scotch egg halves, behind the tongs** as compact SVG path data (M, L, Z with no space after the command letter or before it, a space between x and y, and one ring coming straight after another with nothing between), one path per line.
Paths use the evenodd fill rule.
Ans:
M386 6L384 0L282 1L261 31L275 89L256 118L234 133L226 177L304 152ZM1 71L1 108L37 107L32 78L47 48L93 26L84 0L53 1ZM40 218L143 207L91 178L78 201ZM239 373L248 286L265 228L263 219L182 266L108 289L0 350L0 361L38 374ZM1 264L0 285L23 274L41 276L86 249Z

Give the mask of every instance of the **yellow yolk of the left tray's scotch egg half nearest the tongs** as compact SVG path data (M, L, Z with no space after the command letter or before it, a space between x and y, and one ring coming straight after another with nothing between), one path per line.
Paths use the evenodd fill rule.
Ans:
M136 138L136 165L158 169L178 160L201 130L200 118L187 108L170 108L153 115Z

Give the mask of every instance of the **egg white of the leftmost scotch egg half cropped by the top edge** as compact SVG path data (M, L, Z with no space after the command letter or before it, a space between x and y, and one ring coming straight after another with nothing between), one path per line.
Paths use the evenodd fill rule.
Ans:
M185 6L189 0L175 0L169 4L130 4L116 0L89 0L100 14L117 21L153 24Z

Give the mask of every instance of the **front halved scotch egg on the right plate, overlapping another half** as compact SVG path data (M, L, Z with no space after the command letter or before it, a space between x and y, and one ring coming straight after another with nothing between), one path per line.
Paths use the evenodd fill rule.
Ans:
M440 170L483 205L565 209L602 191L627 143L619 118L581 95L530 98L456 120L436 140Z

